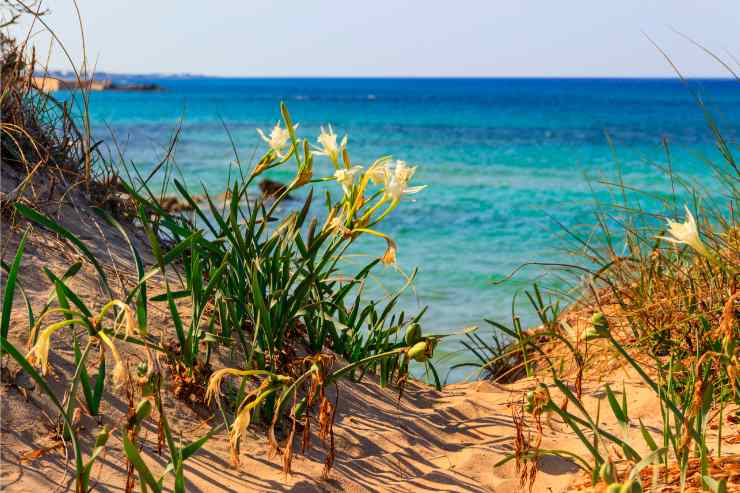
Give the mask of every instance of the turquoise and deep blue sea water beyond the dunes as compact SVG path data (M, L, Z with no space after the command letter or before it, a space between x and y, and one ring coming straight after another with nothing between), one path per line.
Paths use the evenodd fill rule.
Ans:
M515 292L543 271L494 285L527 261L565 260L572 246L562 223L593 223L594 198L609 200L599 179L624 180L647 191L670 185L654 164L666 164L711 186L703 157L718 160L711 133L687 88L677 80L623 79L153 79L153 93L94 93L98 137L113 131L128 160L146 170L158 161L182 119L176 161L194 191L223 190L233 152L242 161L263 147L265 130L288 104L302 135L331 123L349 135L353 161L381 155L419 166L415 184L428 185L403 204L384 231L398 242L405 272L419 268L410 311L430 305L426 330L447 332L510 319ZM691 86L715 111L725 137L737 142L740 91L735 81ZM609 145L607 135L614 148ZM329 174L324 163L317 174ZM288 179L290 173L273 177ZM380 255L381 240L359 250ZM380 275L387 286L399 276ZM545 280L545 284L547 281ZM523 314L525 323L533 317ZM453 345L454 347L454 345ZM458 360L464 356L458 355Z

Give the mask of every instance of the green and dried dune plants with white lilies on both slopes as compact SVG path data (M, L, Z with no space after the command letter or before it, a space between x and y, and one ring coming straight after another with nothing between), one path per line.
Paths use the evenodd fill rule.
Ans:
M716 188L668 169L674 192L643 208L639 190L612 183L615 202L595 211L595 232L569 232L580 257L552 265L578 280L573 289L533 286L526 296L541 325L522 327L514 314L511 324L490 322L499 334L491 340L483 331L425 333L423 310L406 314L398 296L365 290L403 248L383 222L424 193L414 166L389 156L359 166L346 137L331 127L302 135L276 103L278 121L260 130L262 155L242 162L235 149L225 193L194 196L167 156L143 176L123 156L105 155L84 91L64 102L36 90L33 55L6 35L0 46L3 384L42 402L55 423L52 445L24 460L68 454L69 488L98 488L94 471L117 454L126 464L117 490L189 491L188 464L217 439L233 467L249 441L263 441L285 477L294 455L318 441L326 480L341 454L339 383L372 378L399 406L407 386L426 385L412 374L431 375L441 390L434 353L447 337L463 341L481 380L526 382L501 392L514 429L508 448L476 467L513 462L524 490L546 491L536 481L547 457L578 469L567 489L740 488L732 446L740 441L740 166L736 144L700 101L723 157L707 161ZM317 159L334 173L316 176ZM278 167L292 181L260 193L260 178ZM302 204L286 206L299 190ZM170 196L183 206L163 206ZM83 228L67 220L70 210L103 226ZM376 258L348 272L343 260L361 237L377 242ZM74 254L39 260L55 248ZM111 267L114 253L126 268ZM623 374L650 395L660 426L631 416L634 389L616 378ZM120 419L108 419L112 399L123 403ZM196 436L172 422L174 401L201 413ZM577 446L545 446L553 429ZM150 432L156 447L144 445Z

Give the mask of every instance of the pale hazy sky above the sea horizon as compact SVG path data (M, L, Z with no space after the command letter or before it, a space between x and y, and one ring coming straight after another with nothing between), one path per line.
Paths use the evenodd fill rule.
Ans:
M30 1L30 0L26 0ZM78 0L98 71L220 76L727 76L740 71L740 0ZM44 17L82 60L72 0ZM28 22L18 33L29 30ZM48 32L33 27L40 57ZM52 69L69 62L55 43Z

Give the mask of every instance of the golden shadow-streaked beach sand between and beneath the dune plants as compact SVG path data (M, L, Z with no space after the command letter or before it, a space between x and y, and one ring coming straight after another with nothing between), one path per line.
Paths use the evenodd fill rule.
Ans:
M78 234L98 256L112 284L132 283L135 273L131 259L120 234L84 206L74 205L74 200L63 206L57 217L63 225ZM24 226L25 227L25 226ZM11 231L8 221L3 221L3 258L15 251L21 229ZM139 248L145 251L141 234L134 235ZM47 266L60 275L80 256L66 242L55 235L35 228L29 237L24 256L21 279L31 300L38 307L49 293L50 285L43 274ZM145 261L152 262L150 255ZM157 281L154 281L156 284ZM159 280L161 283L161 280ZM104 297L98 287L95 271L85 263L80 274L71 282L87 302L99 305ZM160 286L161 289L161 286ZM151 292L157 292L156 285ZM160 305L152 305L151 331L171 330L168 314ZM13 323L9 339L19 348L26 348L28 322L20 296L16 297ZM576 324L578 327L578 324ZM123 345L121 345L123 346ZM53 371L48 377L60 398L73 371L73 353L69 336L61 331L52 342ZM141 354L125 353L132 364L141 360ZM94 364L95 361L92 362ZM225 355L216 355L214 367L227 364ZM8 492L40 492L73 490L73 456L71 447L54 447L50 442L51 420L56 413L28 377L4 372L1 397L2 411L2 489ZM91 368L94 372L94 369ZM633 426L628 430L631 443L642 444L637 426L642 419L656 439L661 422L658 401L654 394L641 384L634 374L620 368L616 359L605 355L584 379L586 406L594 413L601 408L602 426L621 436L618 424L609 410L603 383L611 382L615 391L626 386L629 395L629 413ZM545 380L546 382L546 380ZM338 408L334 427L336 459L328 479L322 479L327 446L315 436L311 448L301 455L300 432L296 436L296 453L292 474L285 476L281 457L269 457L269 446L263 429L247 432L242 440L240 465L230 462L229 442L226 434L215 435L206 446L186 462L188 491L344 491L344 492L399 492L399 491L470 491L512 492L526 491L520 486L514 461L494 467L514 450L516 427L512 419L519 409L523 396L537 384L534 379L523 379L508 385L489 382L471 382L448 385L442 391L409 382L399 400L398 391L382 388L373 377L365 377L359 384L341 382L338 387ZM107 386L109 389L111 386ZM109 390L106 390L109 392ZM336 398L336 390L330 397ZM562 401L551 389L556 402ZM178 436L192 440L205 434L220 418L203 405L187 405L165 392L168 419ZM107 394L103 401L102 422L114 430L120 429L125 420L126 399L122 395ZM530 429L536 427L527 418ZM587 457L578 438L562 422L543 416L544 448L561 449ZM99 430L97 420L81 418L83 449L89 454L90 445ZM733 425L734 426L734 425ZM732 428L726 436L737 436ZM124 491L126 462L121 451L120 434L112 434L106 452L93 468L95 491ZM535 436L525 431L525 437L534 441ZM166 452L157 453L157 433L153 422L148 421L140 434L142 455L155 468L166 464ZM713 440L713 439L712 439ZM710 440L711 441L711 440ZM52 447L47 453L39 451ZM636 447L644 451L644 447ZM166 448L165 448L166 450ZM740 452L736 444L723 444L723 451ZM34 454L37 457L33 457ZM619 451L610 455L618 459ZM543 457L538 461L539 472L533 486L535 492L560 492L579 484L586 484L587 477L570 460ZM171 480L167 485L172 487ZM138 486L135 488L138 490Z

